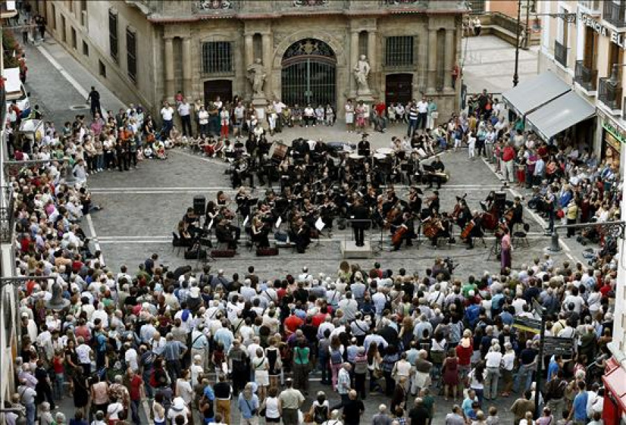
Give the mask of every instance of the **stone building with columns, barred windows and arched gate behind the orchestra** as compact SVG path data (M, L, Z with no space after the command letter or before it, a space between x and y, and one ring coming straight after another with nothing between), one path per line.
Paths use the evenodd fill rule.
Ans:
M463 1L33 3L56 40L103 83L153 110L179 91L204 101L251 99L248 67L260 59L268 101L331 103L341 111L357 97L360 55L371 67L372 98L425 95L444 114L458 107L451 70L461 53Z

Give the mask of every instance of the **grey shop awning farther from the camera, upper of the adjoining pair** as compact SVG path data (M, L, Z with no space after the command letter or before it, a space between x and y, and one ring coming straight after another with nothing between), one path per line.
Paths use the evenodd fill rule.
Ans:
M502 97L517 115L527 115L570 90L572 88L561 78L547 71L507 90Z

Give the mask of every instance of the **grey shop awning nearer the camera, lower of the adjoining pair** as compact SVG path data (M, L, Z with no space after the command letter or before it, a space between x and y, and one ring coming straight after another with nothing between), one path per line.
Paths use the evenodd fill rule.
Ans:
M563 94L526 116L544 140L595 115L595 108L575 92Z

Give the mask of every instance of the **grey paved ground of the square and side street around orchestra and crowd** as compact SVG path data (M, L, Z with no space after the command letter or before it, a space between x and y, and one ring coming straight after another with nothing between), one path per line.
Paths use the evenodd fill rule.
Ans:
M476 40L476 42L481 41L482 38ZM64 120L76 115L76 112L70 110L68 106L84 103L81 90L77 87L88 90L95 79L90 77L85 69L56 43L46 42L42 45L42 49L27 47L26 53L29 58L29 69L31 69L27 86L33 98L44 108L47 118L61 126ZM510 54L510 51L506 54ZM48 56L54 58L56 63L63 64L63 69L51 70ZM492 67L485 69L491 72ZM76 84L67 81L61 71L69 74ZM113 94L102 86L97 85L97 87L102 94L106 108L116 110L121 105ZM405 131L405 126L392 126L385 134L371 133L370 140L375 148L387 147L392 135L402 135ZM292 128L278 136L287 142L300 136L323 138L326 141L357 142L360 140L360 135L346 133L341 124L330 128L316 127L306 130ZM466 151L444 153L442 160L451 174L449 183L441 190L442 210L451 211L455 197L465 193L467 193L470 208L477 209L479 201L484 199L490 190L499 190L501 187L499 176L494 174L482 160L468 160ZM182 259L180 253L172 251L171 232L175 230L175 225L182 217L184 210L191 206L195 194L204 194L207 199L211 199L215 197L217 190L228 188L229 181L224 174L226 168L227 165L217 160L178 149L170 151L170 157L166 161L148 160L141 163L138 169L130 172L103 172L90 176L89 185L93 190L93 199L104 206L104 210L84 219L83 226L93 238L96 247L102 248L106 263L113 270L118 269L122 263L127 263L130 269L134 270L152 252L159 253L161 263L170 267L184 265L188 262ZM406 188L399 188L399 192L401 195L405 194ZM508 199L512 199L513 193L510 190L507 192ZM431 192L426 190L426 196L429 194ZM515 249L514 265L543 255L544 247L549 244L548 238L543 236L543 223L531 217L528 212L525 214L531 224L529 247ZM456 233L458 234L458 228L456 228ZM303 265L309 266L313 274L320 272L332 274L341 260L339 242L348 238L351 238L349 231L336 231L332 238L322 238L319 246L315 246L314 243L305 254L298 255L291 250L284 250L281 251L280 256L270 258L256 258L254 253L242 247L236 257L218 260L211 265L214 269L224 269L226 274L242 272L248 265L255 265L257 272L264 278L298 272ZM380 233L369 232L368 238L377 247ZM489 255L492 239L485 239L487 247L477 244L474 251L465 250L462 244L439 249L423 244L410 249L403 247L399 252L388 252L389 237L383 235L382 249L376 249L371 259L359 261L364 267L369 267L375 260L378 260L385 268L395 270L399 267L406 267L408 272L423 272L424 268L430 266L436 257L451 256L459 263L456 275L465 277L471 273L482 274L485 270L495 271L499 268L499 263ZM577 242L567 240L563 247L567 249L554 255L557 262L581 258L582 247ZM191 265L195 266L193 262ZM329 395L331 404L338 401L339 397L330 391L330 387L319 383L319 375L312 375L310 383L310 394L323 389ZM309 397L304 407L308 408L311 401ZM369 422L378 404L386 401L388 399L385 397L371 394L371 397L367 399L363 422ZM513 422L513 419L511 413L506 410L511 403L513 403L513 397L497 399L485 407L497 406L502 423L509 424ZM453 401L444 401L442 397L436 397L433 424L443 422L444 415L449 412L452 404ZM73 414L71 398L66 397L60 406L67 415ZM239 420L236 408L233 407L232 412L236 423ZM143 414L142 423L149 423Z

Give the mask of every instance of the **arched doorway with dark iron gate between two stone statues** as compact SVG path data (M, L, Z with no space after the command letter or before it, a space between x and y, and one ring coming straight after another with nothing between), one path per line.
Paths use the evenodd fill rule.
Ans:
M282 55L281 98L287 105L336 103L337 57L321 40L305 38Z

